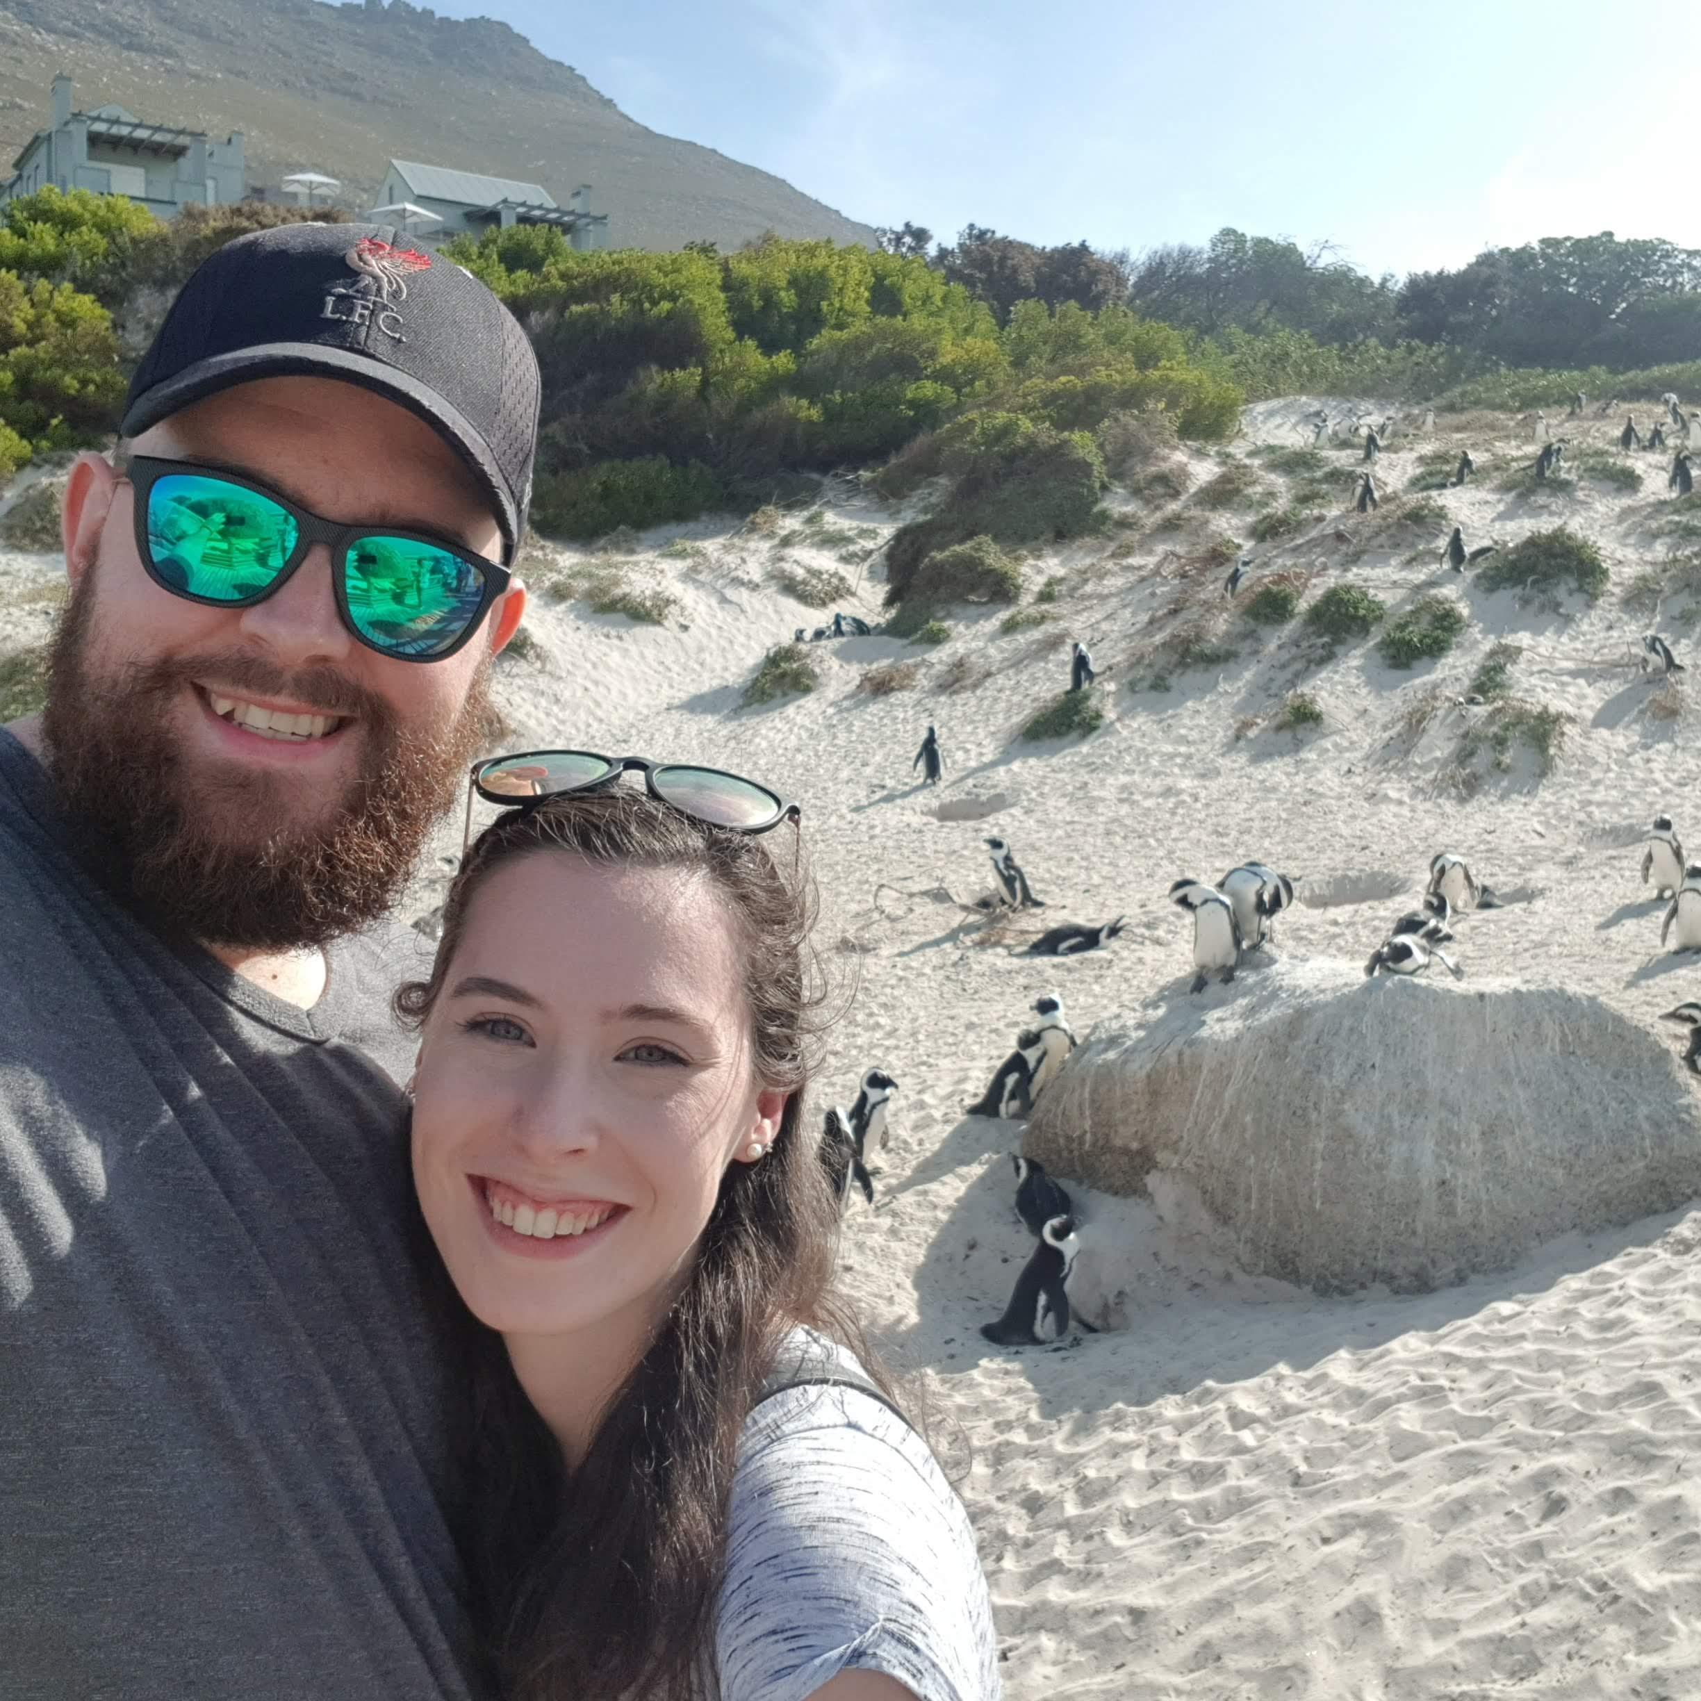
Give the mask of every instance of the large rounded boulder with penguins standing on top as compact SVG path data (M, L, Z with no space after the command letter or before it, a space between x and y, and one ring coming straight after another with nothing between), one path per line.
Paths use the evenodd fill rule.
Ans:
M1599 998L1334 959L1101 1021L1027 1124L1053 1174L1191 1186L1254 1276L1424 1293L1701 1192L1701 1099Z

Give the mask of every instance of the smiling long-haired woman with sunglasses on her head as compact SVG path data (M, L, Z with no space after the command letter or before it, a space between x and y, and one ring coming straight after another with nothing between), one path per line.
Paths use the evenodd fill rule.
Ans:
M534 801L398 995L420 1203L493 1332L475 1577L505 1701L995 1701L968 1519L830 1291L811 917L796 828L764 837L796 811L640 759L475 771L490 801L514 774Z

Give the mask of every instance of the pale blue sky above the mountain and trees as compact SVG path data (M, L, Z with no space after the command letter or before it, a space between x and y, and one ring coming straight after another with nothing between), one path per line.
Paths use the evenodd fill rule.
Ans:
M1135 252L1235 225L1371 272L1701 247L1696 0L432 3L871 225Z

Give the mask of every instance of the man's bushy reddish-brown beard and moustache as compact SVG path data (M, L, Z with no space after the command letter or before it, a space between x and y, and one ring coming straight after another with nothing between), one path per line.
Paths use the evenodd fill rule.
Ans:
M291 672L248 650L133 660L97 677L97 573L90 565L54 633L43 713L54 793L95 878L158 932L235 949L325 946L378 920L500 725L488 658L441 728L400 726L335 668ZM357 716L359 774L303 827L286 776L194 772L170 731L192 679Z

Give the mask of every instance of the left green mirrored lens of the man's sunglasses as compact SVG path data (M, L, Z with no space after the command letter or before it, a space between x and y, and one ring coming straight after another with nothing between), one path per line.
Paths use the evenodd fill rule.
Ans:
M247 602L276 583L296 539L287 509L223 478L170 473L148 490L148 565L182 595Z

